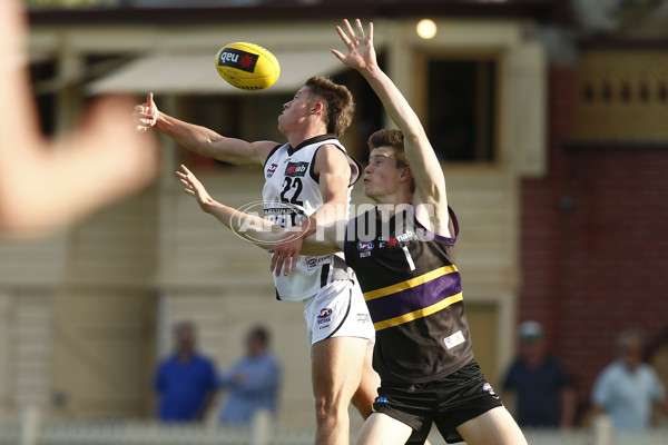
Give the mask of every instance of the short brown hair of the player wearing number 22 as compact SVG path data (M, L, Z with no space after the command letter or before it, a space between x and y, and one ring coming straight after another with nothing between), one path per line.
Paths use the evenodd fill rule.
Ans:
M323 120L327 132L341 137L353 121L355 102L353 95L343 85L334 83L330 78L314 76L306 80L305 87L325 105Z

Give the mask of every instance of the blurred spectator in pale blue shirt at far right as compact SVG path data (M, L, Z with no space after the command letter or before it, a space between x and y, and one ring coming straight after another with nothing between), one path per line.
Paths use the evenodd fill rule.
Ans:
M636 432L650 426L655 405L668 400L654 368L641 362L642 333L625 330L617 338L619 357L597 377L591 393L595 413L608 414L615 428Z

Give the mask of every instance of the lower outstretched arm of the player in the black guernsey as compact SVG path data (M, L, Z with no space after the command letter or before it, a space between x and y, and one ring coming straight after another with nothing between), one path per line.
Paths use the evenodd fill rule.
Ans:
M291 235L298 237L302 234L301 229L291 231L289 228L283 228L258 215L244 214L216 201L186 166L181 166L180 171L177 171L176 175L185 186L184 191L197 199L202 210L214 216L239 237L265 250L272 250L276 244L289 239ZM341 224L345 224L345 221ZM337 240L336 233L336 227L332 225L320 228L318 231L304 238L303 255L326 255L340 251L343 248L343 240Z

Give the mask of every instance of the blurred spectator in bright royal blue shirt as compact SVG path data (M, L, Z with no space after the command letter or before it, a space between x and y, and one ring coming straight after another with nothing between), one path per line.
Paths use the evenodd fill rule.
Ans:
M216 390L213 363L196 353L193 324L175 327L175 344L156 373L157 415L165 422L202 421Z

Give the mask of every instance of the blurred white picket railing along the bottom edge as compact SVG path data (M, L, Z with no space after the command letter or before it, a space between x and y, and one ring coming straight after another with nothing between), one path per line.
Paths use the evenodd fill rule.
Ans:
M525 431L530 445L668 445L668 428L617 434L606 418L592 428ZM249 428L165 425L139 421L46 422L26 412L21 423L0 424L0 445L312 445L313 428L274 428L259 416ZM351 437L354 441L354 434ZM435 428L433 445L445 445Z

